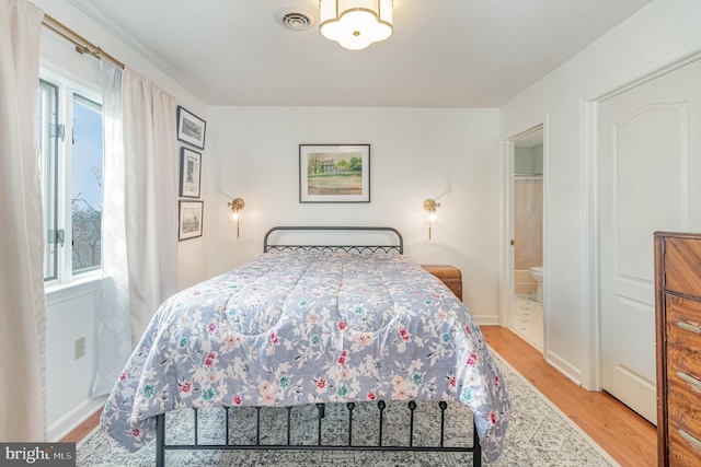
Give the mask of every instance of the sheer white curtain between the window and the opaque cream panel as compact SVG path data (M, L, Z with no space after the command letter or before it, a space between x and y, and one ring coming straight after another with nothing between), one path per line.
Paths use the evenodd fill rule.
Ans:
M110 393L131 353L129 272L125 226L122 69L100 60L104 170L102 202L102 293L97 376L93 395Z

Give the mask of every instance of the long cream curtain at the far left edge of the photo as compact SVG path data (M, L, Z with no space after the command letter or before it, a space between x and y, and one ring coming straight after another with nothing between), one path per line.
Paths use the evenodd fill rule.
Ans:
M46 439L44 221L36 144L44 12L0 0L0 440Z

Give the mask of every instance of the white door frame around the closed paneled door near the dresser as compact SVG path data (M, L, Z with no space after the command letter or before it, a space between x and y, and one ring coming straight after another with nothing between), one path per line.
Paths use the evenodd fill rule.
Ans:
M656 67L636 77L630 77L628 81L614 87L599 90L588 100L581 102L581 135L582 137L582 162L581 180L582 189L582 213L586 234L582 237L582 381L584 388L589 390L601 390L601 360L604 358L601 340L601 265L599 261L601 254L600 223L601 213L600 183L598 179L598 168L600 153L599 143L599 106L601 103L624 93L631 89L645 84L656 78L670 73L681 67L701 59L701 50L694 49L691 52L679 57L665 57ZM651 238L652 242L652 238Z

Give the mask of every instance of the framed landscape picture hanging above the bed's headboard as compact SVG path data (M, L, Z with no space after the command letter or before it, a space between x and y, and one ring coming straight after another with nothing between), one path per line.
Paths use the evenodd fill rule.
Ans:
M299 144L299 202L370 202L370 144Z

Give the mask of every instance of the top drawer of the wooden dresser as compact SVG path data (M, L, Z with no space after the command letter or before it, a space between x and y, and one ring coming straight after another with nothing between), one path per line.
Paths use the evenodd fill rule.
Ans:
M665 290L689 296L701 295L701 240L665 240Z

